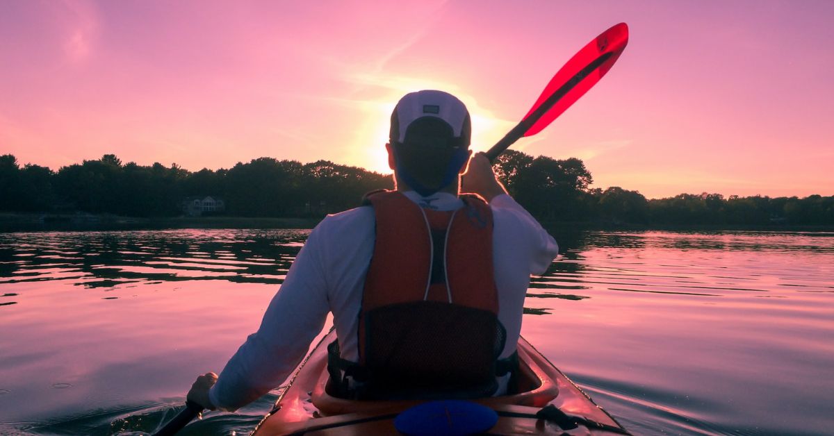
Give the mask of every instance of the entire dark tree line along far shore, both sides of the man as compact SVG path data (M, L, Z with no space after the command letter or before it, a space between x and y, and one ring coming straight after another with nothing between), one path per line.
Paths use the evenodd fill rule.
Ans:
M620 187L590 188L593 178L577 158L534 158L509 150L495 172L510 194L545 222L645 225L834 225L834 197L725 198L681 193L646 199ZM225 214L243 217L320 217L359 204L364 193L393 188L389 175L325 160L257 158L218 170L190 172L176 164L123 164L113 154L53 171L23 167L0 156L0 211L113 213L167 217L183 213L190 196L222 198Z

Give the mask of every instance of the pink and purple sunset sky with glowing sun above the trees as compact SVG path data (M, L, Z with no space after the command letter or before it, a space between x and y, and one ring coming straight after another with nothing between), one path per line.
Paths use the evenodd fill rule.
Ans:
M229 168L269 156L385 170L404 93L455 93L473 148L517 123L615 23L620 61L514 148L595 188L834 195L834 2L0 2L0 153L58 169Z

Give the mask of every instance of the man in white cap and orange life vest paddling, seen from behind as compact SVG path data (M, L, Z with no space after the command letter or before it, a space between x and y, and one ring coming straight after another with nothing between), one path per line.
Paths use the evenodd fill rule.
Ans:
M258 332L219 378L198 377L188 400L234 411L279 386L329 312L335 394L504 393L530 274L544 273L558 247L483 153L470 158L470 136L470 115L449 93L400 99L386 144L395 191L314 228Z

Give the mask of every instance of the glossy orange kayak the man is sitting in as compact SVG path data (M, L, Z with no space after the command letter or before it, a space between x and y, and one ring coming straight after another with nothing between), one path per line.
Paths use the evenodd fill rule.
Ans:
M352 400L330 395L327 390L327 344L335 339L335 331L330 330L309 353L294 373L289 388L279 396L272 412L258 424L253 435L398 434L398 428L402 429L398 427L401 418L413 410L430 406L426 404L429 402L420 400ZM486 433L630 434L525 338L519 338L518 354L520 368L516 384L519 392L456 402L489 408L494 411L489 413L497 414L497 421L486 427ZM445 406L441 404L440 407ZM451 424L448 409L445 415ZM417 422L419 426L422 421L418 418ZM406 433L432 431L417 428Z

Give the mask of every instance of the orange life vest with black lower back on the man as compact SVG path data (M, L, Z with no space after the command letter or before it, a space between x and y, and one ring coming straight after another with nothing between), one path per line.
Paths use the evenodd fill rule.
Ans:
M505 330L498 321L492 212L478 197L461 198L463 208L442 212L398 192L366 197L376 239L359 311L361 370L352 372L361 374L359 397L495 391Z

